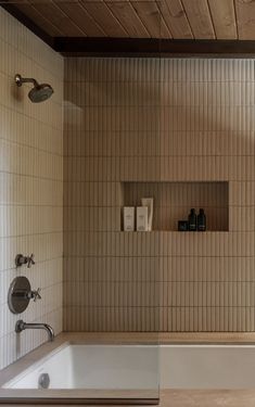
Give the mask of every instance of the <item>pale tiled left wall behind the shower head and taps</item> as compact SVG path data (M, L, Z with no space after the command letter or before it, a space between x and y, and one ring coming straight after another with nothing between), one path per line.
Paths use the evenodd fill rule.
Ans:
M44 331L14 332L15 322L48 322L62 330L63 59L0 8L0 369L47 341ZM33 104L30 85L16 73L49 82L53 97ZM15 269L17 253L35 254ZM11 281L28 277L41 301L22 315L7 304Z

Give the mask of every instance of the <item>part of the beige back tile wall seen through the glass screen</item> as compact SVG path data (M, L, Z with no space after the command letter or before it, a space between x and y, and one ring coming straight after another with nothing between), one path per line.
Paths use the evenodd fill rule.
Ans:
M65 71L64 328L154 330L160 234L120 231L120 181L139 154L131 137L158 149L157 61L72 59Z

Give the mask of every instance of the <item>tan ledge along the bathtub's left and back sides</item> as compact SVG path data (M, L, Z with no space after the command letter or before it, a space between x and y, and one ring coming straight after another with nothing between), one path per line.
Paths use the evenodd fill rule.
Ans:
M59 347L75 345L255 345L255 332L62 332L0 370L2 385ZM1 397L1 393L0 393Z

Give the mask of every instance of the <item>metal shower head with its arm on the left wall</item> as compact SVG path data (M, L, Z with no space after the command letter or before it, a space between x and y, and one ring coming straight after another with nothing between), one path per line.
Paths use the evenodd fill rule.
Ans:
M21 87L25 82L33 84L34 87L28 93L28 98L33 103L40 103L44 100L49 99L54 90L48 84L38 84L38 81L34 78L23 78L21 75L15 75L15 82L16 86Z

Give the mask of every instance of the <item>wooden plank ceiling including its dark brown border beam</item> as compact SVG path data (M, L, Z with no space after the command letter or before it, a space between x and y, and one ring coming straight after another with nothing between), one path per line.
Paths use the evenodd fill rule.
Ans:
M0 0L64 55L255 56L255 0Z

